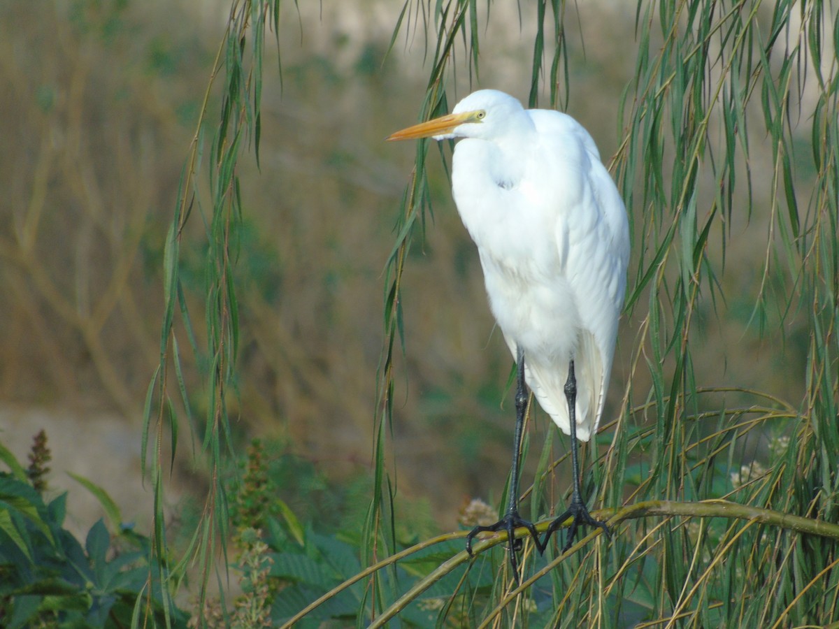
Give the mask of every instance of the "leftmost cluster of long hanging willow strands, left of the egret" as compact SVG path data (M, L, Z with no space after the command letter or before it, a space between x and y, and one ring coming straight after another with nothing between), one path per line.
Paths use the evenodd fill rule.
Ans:
M276 29L279 21L279 2L257 3L244 0L232 3L228 30L216 54L213 70L221 71L223 78L221 111L216 133L212 135L206 159L209 177L206 182L210 198L206 209L202 201L204 183L199 168L205 157L204 133L209 114L207 101L210 87L201 107L190 156L181 174L179 195L175 204L173 221L169 226L164 247L164 317L160 335L159 366L149 383L144 409L143 465L147 462L146 444L154 439L154 452L150 470L155 496L155 528L151 552L155 559L166 554L166 533L163 522L164 485L161 481L166 461L161 457L164 439L168 437L168 450L175 456L178 447L180 419L176 404L183 406L186 418L194 421L193 405L186 390L181 349L175 335L175 323L180 321L186 331L188 350L203 365L206 378L206 404L202 450L210 465L212 480L206 497L206 508L201 512L201 522L190 541L185 557L174 567L173 574L159 574L162 581L173 578L166 595L177 589L180 580L193 562L200 566L201 595L199 608L206 602L206 585L213 571L217 546L226 551L229 531L227 495L221 480L224 467L223 455L232 453L232 433L229 417L228 395L235 389L235 365L239 346L239 302L233 268L238 258L242 233L242 195L237 160L243 147L253 147L259 159L261 134L262 62L265 29ZM248 45L249 44L249 45ZM248 69L246 70L246 65ZM204 318L201 336L206 348L200 349L185 299L180 275L180 245L193 210L201 213L206 230L206 254L203 257ZM174 391L170 392L170 388ZM164 436L164 427L169 427ZM172 465L172 461L169 461ZM145 473L145 470L143 470ZM153 562L154 563L154 560ZM167 606L174 606L166 600Z

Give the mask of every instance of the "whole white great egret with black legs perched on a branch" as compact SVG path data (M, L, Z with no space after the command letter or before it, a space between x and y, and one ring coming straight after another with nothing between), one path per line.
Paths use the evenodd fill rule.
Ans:
M518 580L515 528L544 552L551 533L572 517L564 550L580 524L609 534L583 502L577 439L597 430L612 370L626 290L626 210L586 129L565 113L531 109L501 91L480 90L448 116L393 133L388 140L464 138L457 143L451 188L477 245L492 314L518 367L513 467L506 515L482 531L508 532ZM574 486L567 511L540 542L519 516L519 450L527 406L524 382L571 435Z

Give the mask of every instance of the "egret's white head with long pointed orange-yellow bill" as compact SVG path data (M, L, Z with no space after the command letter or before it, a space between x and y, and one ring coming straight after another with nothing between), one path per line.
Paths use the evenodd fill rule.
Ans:
M478 90L456 104L447 116L393 133L388 140L414 138L496 138L508 133L524 113L521 103L498 90Z

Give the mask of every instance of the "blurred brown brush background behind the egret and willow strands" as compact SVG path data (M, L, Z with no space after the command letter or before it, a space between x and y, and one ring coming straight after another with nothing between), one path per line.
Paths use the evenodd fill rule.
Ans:
M477 87L527 100L535 16L515 4L493 5L509 16L493 18L480 76L458 76L450 106ZM581 3L565 18L578 27L566 33L567 111L607 163L636 55L630 4ZM405 15L409 23L388 52L401 9L345 0L300 2L297 13L289 3L280 59L266 49L266 68L279 62L282 71L264 74L260 168L239 162L235 436L270 439L275 455L304 461L323 487L347 486L371 465L382 272L414 160L412 144L383 138L417 121L430 63L421 13ZM65 470L81 474L139 522L152 511L139 452L143 399L159 362L164 237L228 10L222 0L0 7L0 440L23 457L46 429L51 488L70 486ZM771 161L754 141L758 172ZM434 526L451 529L471 497L497 501L507 476L512 359L493 331L477 254L434 149L429 164L433 221L404 277L407 346L393 450L399 490L425 504ZM729 300L701 302L694 369L703 383L759 383L795 403L804 391L804 328L798 335L795 313L755 316L765 242L755 251L738 241L747 223L769 229L762 202L728 225L721 277ZM201 225L190 221L194 232L182 245L181 277L196 317L205 288ZM631 273L636 265L633 254ZM785 334L774 335L783 315ZM637 331L625 317L607 417L623 398ZM645 373L633 377L644 391ZM202 408L200 398L195 403ZM542 417L536 429L546 424ZM180 511L204 484L188 445L173 475L169 500ZM80 529L101 515L95 500L85 501L81 493L70 501Z

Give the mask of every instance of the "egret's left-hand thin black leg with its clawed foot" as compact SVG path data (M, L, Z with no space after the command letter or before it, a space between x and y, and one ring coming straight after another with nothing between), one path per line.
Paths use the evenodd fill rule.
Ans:
M524 429L524 413L527 411L527 387L524 385L524 351L521 348L517 348L516 354L516 371L519 382L516 387L516 429L515 437L513 438L513 468L510 470L510 500L507 513L491 526L477 526L473 528L466 536L466 552L470 555L472 554L472 539L478 533L482 533L483 531L492 533L507 531L510 567L513 569L513 577L516 583L519 583L519 560L516 557L516 551L521 549L522 544L520 539L515 539L516 528L527 528L530 532L530 537L536 543L536 548L541 550L543 547L539 543L539 533L536 533L533 522L523 520L519 516L519 454L521 451L522 431Z

